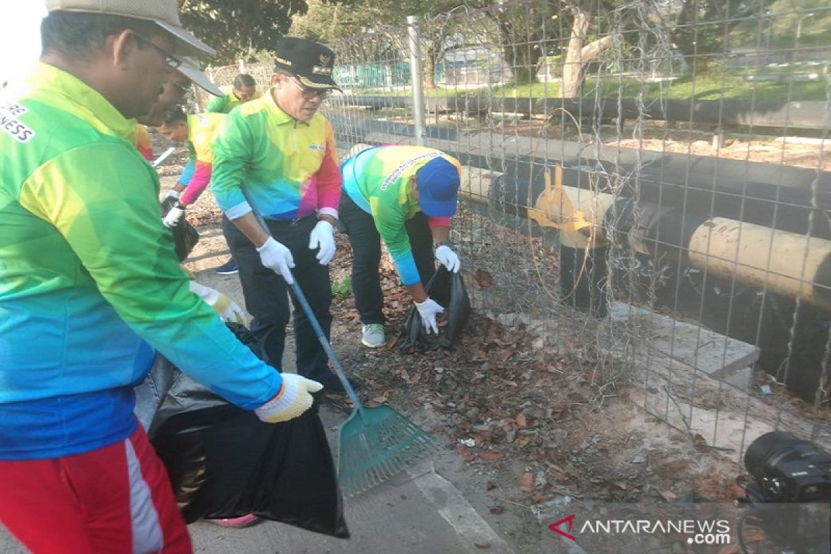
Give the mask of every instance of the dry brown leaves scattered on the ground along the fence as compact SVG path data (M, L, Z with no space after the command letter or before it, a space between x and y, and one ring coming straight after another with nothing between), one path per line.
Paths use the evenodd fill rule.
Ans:
M337 236L332 282L350 273L347 238ZM480 268L472 287L489 287ZM401 351L396 335L411 298L390 263L382 263L387 345L360 346L361 324L352 296L334 301L333 343L361 383L361 401L391 404L440 438L462 463L488 476L486 488L511 503L533 505L553 498L635 501L655 498L732 499L740 469L718 459L706 442L676 433L657 419L652 429L622 429L637 408L623 400L627 383L609 383L597 352L578 335L540 347L523 326L505 326L474 312L452 349ZM342 348L352 342L355 348ZM620 393L621 398L610 390ZM602 394L601 394L602 393ZM344 400L345 409L351 409ZM676 434L672 449L658 448L648 434ZM691 458L706 463L689 463ZM726 468L726 470L725 470ZM495 502L492 513L504 506Z

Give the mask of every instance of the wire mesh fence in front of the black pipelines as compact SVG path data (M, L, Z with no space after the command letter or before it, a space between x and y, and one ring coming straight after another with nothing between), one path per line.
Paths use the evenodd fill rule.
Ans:
M596 372L600 401L633 385L739 457L771 429L831 445L831 7L502 2L329 46L342 156L420 143L465 167L480 310Z

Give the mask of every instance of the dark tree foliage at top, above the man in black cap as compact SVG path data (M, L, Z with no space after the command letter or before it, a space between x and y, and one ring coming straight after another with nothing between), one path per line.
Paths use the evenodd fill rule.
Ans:
M252 61L273 50L292 16L305 13L305 0L179 0L182 24L216 48L213 65Z

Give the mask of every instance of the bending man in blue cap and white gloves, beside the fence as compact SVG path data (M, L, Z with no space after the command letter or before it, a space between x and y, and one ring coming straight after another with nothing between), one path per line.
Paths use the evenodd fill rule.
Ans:
M352 243L352 291L361 316L361 342L386 345L384 298L378 266L381 238L401 282L410 292L425 326L438 333L435 316L444 311L425 292L435 259L458 272L459 256L450 244L450 217L459 199L461 165L448 154L420 146L378 146L341 165L343 193L338 210Z

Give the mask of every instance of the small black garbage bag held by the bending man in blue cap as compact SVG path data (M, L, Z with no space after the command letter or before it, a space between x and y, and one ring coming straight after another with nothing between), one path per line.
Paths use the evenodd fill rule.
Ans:
M447 324L440 327L438 336L428 335L421 325L418 308L412 306L398 336L398 345L402 351L450 348L461 336L470 317L470 297L460 273L450 272L446 267L440 266L427 283L425 292L445 308L443 316Z

